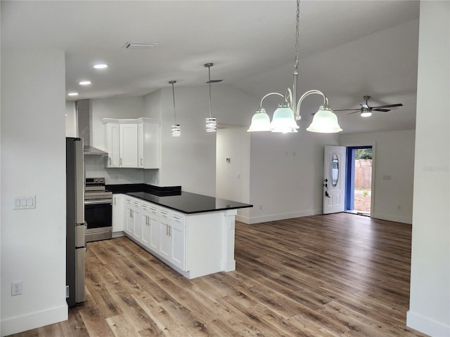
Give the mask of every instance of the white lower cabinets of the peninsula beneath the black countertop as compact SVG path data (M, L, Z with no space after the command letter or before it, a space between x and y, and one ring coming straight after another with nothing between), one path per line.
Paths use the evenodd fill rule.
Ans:
M124 233L188 279L236 269L236 209L185 214L124 195Z

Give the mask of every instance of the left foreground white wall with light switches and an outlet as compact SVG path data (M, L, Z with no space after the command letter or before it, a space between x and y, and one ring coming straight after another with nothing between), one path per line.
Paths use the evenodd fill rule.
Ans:
M1 51L1 336L68 318L65 55ZM18 196L36 208L13 210ZM23 294L11 296L11 282Z

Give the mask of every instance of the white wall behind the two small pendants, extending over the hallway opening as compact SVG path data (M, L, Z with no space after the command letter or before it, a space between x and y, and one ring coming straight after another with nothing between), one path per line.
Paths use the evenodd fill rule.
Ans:
M205 131L209 116L207 86L176 87L176 121L181 137L172 137L174 123L172 88L150 93L144 98L148 117L161 123L161 186L181 185L186 192L216 195L216 133ZM257 98L232 86L212 86L212 114L218 123L250 124Z

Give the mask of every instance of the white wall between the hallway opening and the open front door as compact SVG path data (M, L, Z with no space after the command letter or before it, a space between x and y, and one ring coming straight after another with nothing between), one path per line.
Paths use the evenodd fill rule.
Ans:
M252 133L250 140L250 223L322 213L323 146L338 145L338 134Z

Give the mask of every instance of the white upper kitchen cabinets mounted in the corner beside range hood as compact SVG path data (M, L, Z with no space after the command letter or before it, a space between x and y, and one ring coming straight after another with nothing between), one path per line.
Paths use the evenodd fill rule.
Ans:
M151 118L104 118L106 167L158 169L160 166L160 121Z

